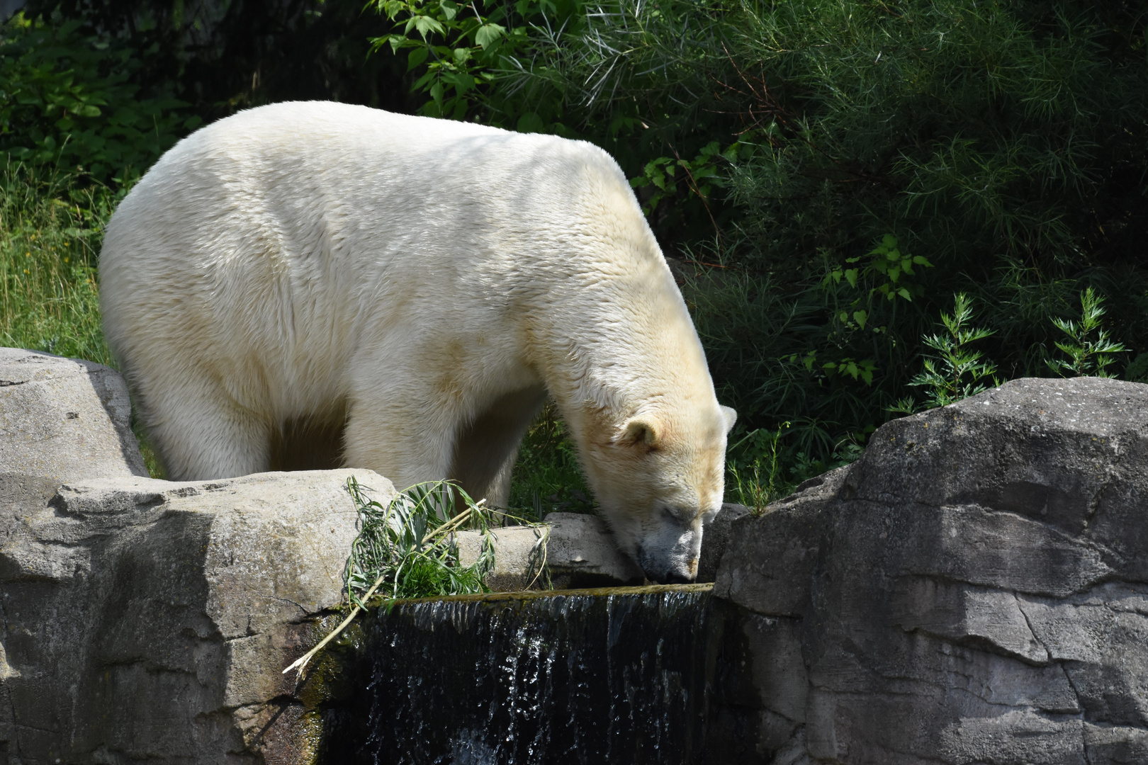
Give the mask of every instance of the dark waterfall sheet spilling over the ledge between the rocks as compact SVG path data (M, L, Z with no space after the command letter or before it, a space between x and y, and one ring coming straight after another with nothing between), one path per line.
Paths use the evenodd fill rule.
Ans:
M708 585L623 587L371 614L341 649L355 690L324 712L323 760L700 763L709 601Z

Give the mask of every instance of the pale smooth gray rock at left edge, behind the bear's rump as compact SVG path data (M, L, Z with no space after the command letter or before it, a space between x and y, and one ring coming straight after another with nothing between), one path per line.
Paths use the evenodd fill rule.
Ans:
M0 476L146 476L115 369L0 348Z

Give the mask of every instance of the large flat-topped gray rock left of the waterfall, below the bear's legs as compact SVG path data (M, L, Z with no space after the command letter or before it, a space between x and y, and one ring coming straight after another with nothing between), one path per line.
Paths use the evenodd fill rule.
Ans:
M369 470L5 482L0 752L10 763L308 763ZM320 654L318 670L321 674Z

